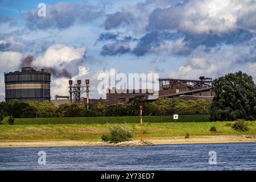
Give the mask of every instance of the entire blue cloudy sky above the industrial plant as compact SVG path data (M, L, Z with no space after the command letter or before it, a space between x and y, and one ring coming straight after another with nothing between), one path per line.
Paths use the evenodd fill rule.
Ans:
M39 3L46 16L38 16ZM51 96L68 80L110 73L160 78L217 78L243 71L256 78L256 2L252 0L0 0L0 100L4 72L24 66L52 73Z

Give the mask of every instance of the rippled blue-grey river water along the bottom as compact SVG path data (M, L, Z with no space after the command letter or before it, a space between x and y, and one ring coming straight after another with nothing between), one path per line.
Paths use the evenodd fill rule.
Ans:
M46 152L46 165L38 152ZM209 151L217 152L210 165ZM256 143L0 148L6 170L256 170Z

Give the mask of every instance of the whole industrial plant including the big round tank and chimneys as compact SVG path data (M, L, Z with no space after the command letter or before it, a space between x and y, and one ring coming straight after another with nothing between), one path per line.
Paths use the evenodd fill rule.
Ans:
M148 96L152 93L144 93L142 90L126 90L127 92L118 92L116 88L108 88L106 91L106 99L89 98L89 80L67 80L67 88L69 88L68 96L55 96L55 100L51 100L51 73L44 71L36 71L31 67L24 67L22 71L5 73L5 100L9 102L18 99L20 102L25 101L52 101L55 105L60 104L81 104L86 107L95 105L99 102L106 105L124 104L134 98L142 97L144 100L150 101ZM68 86L69 85L69 86ZM67 89L68 92L68 89ZM86 93L86 97L81 97L82 93ZM158 98L181 98L183 100L212 100L214 92L212 92L212 78L200 76L199 80L184 80L173 78L159 78Z

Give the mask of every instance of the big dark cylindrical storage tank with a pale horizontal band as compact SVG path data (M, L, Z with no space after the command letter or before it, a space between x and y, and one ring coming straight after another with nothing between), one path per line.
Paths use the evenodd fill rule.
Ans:
M50 82L51 73L44 69L35 71L31 67L24 67L21 72L5 73L5 101L50 101Z

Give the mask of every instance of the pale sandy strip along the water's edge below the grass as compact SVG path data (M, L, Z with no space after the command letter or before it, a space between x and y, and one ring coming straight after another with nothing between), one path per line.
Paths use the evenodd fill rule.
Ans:
M170 137L161 139L145 139L154 144L192 144L192 143L241 143L256 142L256 137L246 138L237 135L200 136L185 139L184 137ZM91 146L91 142L76 140L42 141L42 142L0 142L0 147L61 147L61 146Z

